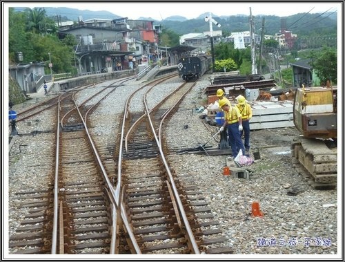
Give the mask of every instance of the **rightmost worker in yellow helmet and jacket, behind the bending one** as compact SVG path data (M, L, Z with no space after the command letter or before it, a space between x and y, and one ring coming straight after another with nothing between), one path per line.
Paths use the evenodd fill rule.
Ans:
M239 113L242 115L242 126L243 130L240 131L241 137L244 133L244 147L246 148L246 153L249 152L250 145L249 145L249 134L250 134L250 126L249 120L252 118L252 108L250 104L246 102L246 98L243 95L239 95L236 97L237 99L237 108L239 109Z

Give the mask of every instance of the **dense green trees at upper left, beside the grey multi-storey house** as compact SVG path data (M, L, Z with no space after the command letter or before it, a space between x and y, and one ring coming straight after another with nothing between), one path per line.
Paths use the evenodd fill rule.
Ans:
M29 15L30 14L30 15ZM28 17L32 17L35 23L28 26ZM43 24L42 24L43 21ZM47 23L47 27L46 24ZM41 8L30 8L26 12L14 12L9 10L9 56L10 62L17 61L16 52L23 53L23 63L44 62L46 63L46 74L50 73L49 55L51 54L52 72L66 73L75 72L73 46L77 44L75 37L66 35L64 39L58 39L55 34L53 21L45 17L45 12ZM37 26L34 26L37 25ZM48 29L51 30L48 30ZM47 34L44 33L46 32Z

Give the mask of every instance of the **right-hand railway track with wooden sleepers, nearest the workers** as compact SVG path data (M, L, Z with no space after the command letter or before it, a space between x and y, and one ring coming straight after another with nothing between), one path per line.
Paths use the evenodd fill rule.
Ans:
M184 83L153 109L148 109L145 102L148 113L131 118L132 127L126 135L129 142L123 150L122 205L126 206L133 226L135 240L132 241L143 254L199 254L206 252L210 243L225 241L217 237L221 230L203 230L217 222L210 220L211 210L197 195L201 192L185 189L177 176L171 174L164 156L168 148L161 142L162 119L177 110L181 98L192 87L192 83ZM203 218L208 221L200 222ZM232 250L223 248L213 252L231 253Z

